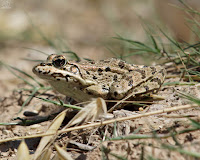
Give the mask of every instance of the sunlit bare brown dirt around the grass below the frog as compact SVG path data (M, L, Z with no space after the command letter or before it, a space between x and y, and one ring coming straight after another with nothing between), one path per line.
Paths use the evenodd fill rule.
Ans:
M168 79L167 81L172 81L174 79ZM26 86L23 86L26 88ZM128 117L131 115L139 115L141 113L153 112L156 110L162 110L168 107L177 107L180 105L186 105L190 102L177 95L175 90L188 92L192 95L199 97L200 88L198 85L194 86L176 86L169 87L163 86L159 95L165 97L164 100L155 101L155 104L148 105L144 111L128 111L128 110L116 110L113 112L115 118ZM38 111L39 116L53 115L63 108L50 105L49 103L43 102L34 98L20 114L17 114L21 109L21 104L27 98L28 92L13 92L11 96L4 97L1 101L1 122L11 122L11 119L19 116L24 117L23 113L25 111ZM52 91L47 92L44 97L49 97L54 99L55 93ZM62 97L60 97L63 99ZM57 99L57 98L55 98ZM187 117L184 117L187 116ZM125 157L127 159L139 159L141 157L141 152L143 152L144 157L154 156L157 158L171 158L176 159L179 156L182 159L187 159L177 152L171 152L170 150L163 147L165 145L176 144L176 141L172 138L165 139L146 139L146 140L118 140L118 141L105 141L106 137L120 137L125 135L130 135L134 132L137 134L152 134L152 131L156 131L159 134L170 133L171 130L176 132L190 128L190 121L188 117L198 119L199 110L197 109L187 109L187 110L177 110L171 113L163 113L159 115L153 115L148 117L137 118L135 120L127 120L123 122L117 122L102 126L95 129L83 129L66 134L61 134L57 137L56 142L61 146L67 145L68 152L71 153L74 159L85 158L85 159L101 159L102 156L108 159L117 159L116 156ZM25 117L24 117L25 118ZM35 117L38 119L38 116ZM19 121L19 120L18 120ZM67 123L65 120L64 123ZM16 122L16 121L12 121ZM51 123L51 119L48 121L31 125L31 126L2 126L1 127L1 139L11 138L15 136L26 136L34 135L37 133L44 133ZM63 124L64 125L64 124ZM192 146L192 151L198 152L199 149L199 131L185 133L177 135L176 139L180 145L183 145L184 150L190 149ZM31 152L34 152L37 148L40 138L27 139L26 143ZM78 143L78 147L73 143L68 143L69 141L74 141ZM13 141L9 143L3 143L0 145L1 148L1 158L6 159L6 157L15 156L17 152L17 147L20 141ZM79 145L85 144L90 146L91 150L80 149ZM154 147L152 147L154 145ZM156 146L156 147L155 147ZM94 147L94 148L93 148ZM73 150L73 151L72 151ZM191 149L190 149L191 150ZM81 152L80 152L81 151Z

